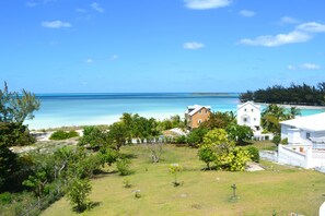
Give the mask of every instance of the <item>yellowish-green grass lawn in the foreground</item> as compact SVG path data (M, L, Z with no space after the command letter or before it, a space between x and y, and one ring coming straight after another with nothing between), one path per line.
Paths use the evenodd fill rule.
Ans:
M195 148L166 146L163 161L151 164L143 145L123 147L134 154L132 170L128 176L132 187L126 189L117 173L97 176L92 180L90 200L94 207L83 215L317 215L325 201L324 175L316 171L288 168L263 161L265 171L225 172L204 171ZM169 165L184 167L173 187ZM108 170L114 171L115 167ZM237 200L232 201L231 185L237 185ZM136 199L132 191L141 190ZM43 215L77 215L63 197Z

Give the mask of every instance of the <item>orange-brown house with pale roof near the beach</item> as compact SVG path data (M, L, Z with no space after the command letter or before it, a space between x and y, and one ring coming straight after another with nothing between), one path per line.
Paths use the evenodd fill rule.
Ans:
M210 115L211 115L210 106L200 106L200 105L188 106L187 110L185 111L187 128L188 129L198 128L200 123L209 119Z

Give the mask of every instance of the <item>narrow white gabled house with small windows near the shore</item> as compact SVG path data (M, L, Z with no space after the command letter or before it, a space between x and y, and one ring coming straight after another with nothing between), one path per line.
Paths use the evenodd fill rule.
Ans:
M260 127L260 106L253 101L237 105L237 124L258 129Z

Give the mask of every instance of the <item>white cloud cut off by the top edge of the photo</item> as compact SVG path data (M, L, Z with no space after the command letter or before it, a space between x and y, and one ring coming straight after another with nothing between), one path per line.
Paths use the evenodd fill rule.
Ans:
M185 7L194 10L207 10L228 7L232 0L184 0Z

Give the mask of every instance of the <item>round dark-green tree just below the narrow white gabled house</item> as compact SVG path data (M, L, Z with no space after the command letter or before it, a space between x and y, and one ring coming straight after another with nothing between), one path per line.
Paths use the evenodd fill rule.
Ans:
M254 135L249 127L239 125L237 123L229 124L225 130L229 134L229 137L232 141L235 141L237 144L242 144L252 140L252 136Z

